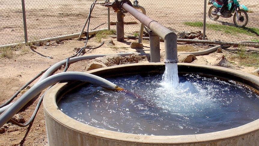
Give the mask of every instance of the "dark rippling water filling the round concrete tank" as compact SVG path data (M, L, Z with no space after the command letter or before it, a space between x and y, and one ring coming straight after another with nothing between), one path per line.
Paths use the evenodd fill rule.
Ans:
M215 77L178 77L177 72L172 75L175 72L168 70L163 75L108 78L127 92L85 85L66 94L58 106L87 125L141 135L215 132L259 118L259 95L253 89Z

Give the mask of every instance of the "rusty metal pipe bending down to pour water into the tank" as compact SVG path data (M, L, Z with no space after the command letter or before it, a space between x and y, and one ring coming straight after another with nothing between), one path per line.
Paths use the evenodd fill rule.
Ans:
M122 5L123 9L133 15L141 23L144 23L150 30L156 33L160 38L165 41L165 62L166 63L177 63L177 35L161 25L155 20L152 20L145 14L142 14L135 8L131 7L127 3Z

